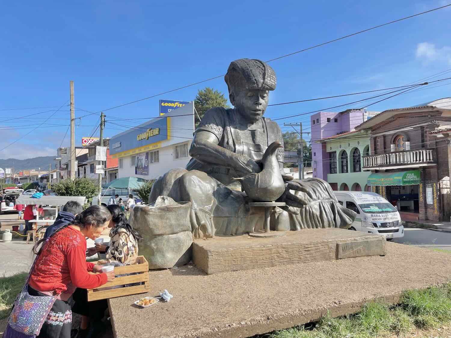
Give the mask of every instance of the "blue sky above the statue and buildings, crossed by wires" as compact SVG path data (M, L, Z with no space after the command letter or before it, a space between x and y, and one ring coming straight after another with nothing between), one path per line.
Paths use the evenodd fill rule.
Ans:
M64 105L69 100L69 80L75 83L79 117L89 114L84 110L105 110L224 74L234 59L273 59L447 3L451 0L3 4L0 149L54 111L19 117L63 107L41 128L0 151L0 158L55 155L69 124L69 107ZM273 61L270 65L277 74L277 88L270 94L270 104L401 86L451 69L450 16L451 7ZM432 80L447 77L451 73ZM396 96L368 110L451 96L451 81L440 84L450 85ZM109 110L106 119L137 125L118 119L155 117L159 99L193 100L198 89L206 86L228 96L223 78L218 78ZM369 96L268 107L265 116L275 119L322 110ZM56 108L6 110L31 107ZM77 144L82 136L91 135L97 118L91 115L77 120ZM278 122L285 131L290 129L284 122L299 121L304 128L310 127L308 115ZM120 128L107 124L105 136L114 136ZM69 145L69 135L62 144Z

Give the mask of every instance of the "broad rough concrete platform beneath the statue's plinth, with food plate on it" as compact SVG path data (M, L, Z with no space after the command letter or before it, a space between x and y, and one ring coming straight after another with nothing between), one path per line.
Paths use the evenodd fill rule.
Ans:
M351 231L350 231L351 232ZM368 301L399 301L406 289L451 280L451 255L388 242L364 256L205 274L192 265L149 272L148 294L109 299L116 338L251 337L359 311ZM167 289L147 309L133 302Z

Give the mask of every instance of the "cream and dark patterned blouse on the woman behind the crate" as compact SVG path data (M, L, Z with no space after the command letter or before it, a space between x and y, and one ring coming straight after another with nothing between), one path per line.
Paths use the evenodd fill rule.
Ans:
M118 261L123 264L134 264L138 257L138 243L133 235L124 228L121 228L115 234L111 231L110 246L106 252L106 259L99 260L97 264L106 264L112 261Z

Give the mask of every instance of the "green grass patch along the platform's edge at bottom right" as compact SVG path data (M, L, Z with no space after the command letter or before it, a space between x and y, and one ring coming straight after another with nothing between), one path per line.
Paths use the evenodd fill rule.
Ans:
M406 291L396 306L377 302L367 303L354 315L331 318L327 314L313 326L298 326L263 337L371 338L391 335L402 337L413 329L433 329L449 322L451 322L451 283L440 288Z

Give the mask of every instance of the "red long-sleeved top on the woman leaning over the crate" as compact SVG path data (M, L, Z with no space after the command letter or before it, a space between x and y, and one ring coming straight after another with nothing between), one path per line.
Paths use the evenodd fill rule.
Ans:
M29 284L40 292L72 293L75 288L98 288L107 282L107 276L88 274L93 268L94 264L86 261L83 234L69 226L45 242Z

